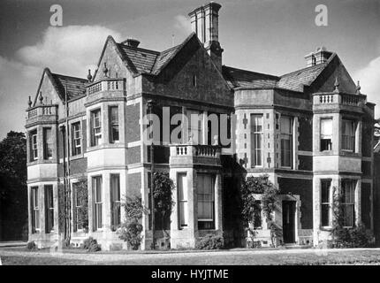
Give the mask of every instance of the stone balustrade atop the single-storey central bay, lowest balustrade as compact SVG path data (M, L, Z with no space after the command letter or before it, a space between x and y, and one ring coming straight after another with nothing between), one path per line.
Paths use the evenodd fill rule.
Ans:
M214 145L172 144L170 165L192 166L209 165L220 166L221 148Z

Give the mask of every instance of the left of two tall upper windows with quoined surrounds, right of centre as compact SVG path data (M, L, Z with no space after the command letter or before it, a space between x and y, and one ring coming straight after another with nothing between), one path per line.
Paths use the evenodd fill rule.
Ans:
M262 166L262 115L251 115L252 167Z

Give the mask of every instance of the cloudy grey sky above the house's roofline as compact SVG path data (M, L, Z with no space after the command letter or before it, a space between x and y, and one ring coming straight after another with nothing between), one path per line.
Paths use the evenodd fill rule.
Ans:
M43 68L85 78L108 35L166 50L190 33L188 12L207 0L2 0L0 2L0 139L25 132L28 96ZM305 67L317 47L335 51L380 118L380 0L217 0L223 64L281 75ZM63 26L50 26L50 6ZM324 4L327 27L315 25Z

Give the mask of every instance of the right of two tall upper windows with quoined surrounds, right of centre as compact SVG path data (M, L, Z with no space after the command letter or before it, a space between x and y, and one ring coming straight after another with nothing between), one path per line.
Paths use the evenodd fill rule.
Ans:
M292 118L281 116L281 166L292 167Z

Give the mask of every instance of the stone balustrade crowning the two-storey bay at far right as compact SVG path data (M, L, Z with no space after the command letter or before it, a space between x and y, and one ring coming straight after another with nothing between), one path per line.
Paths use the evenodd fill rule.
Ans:
M313 111L347 110L359 111L367 102L367 96L345 93L315 93Z

